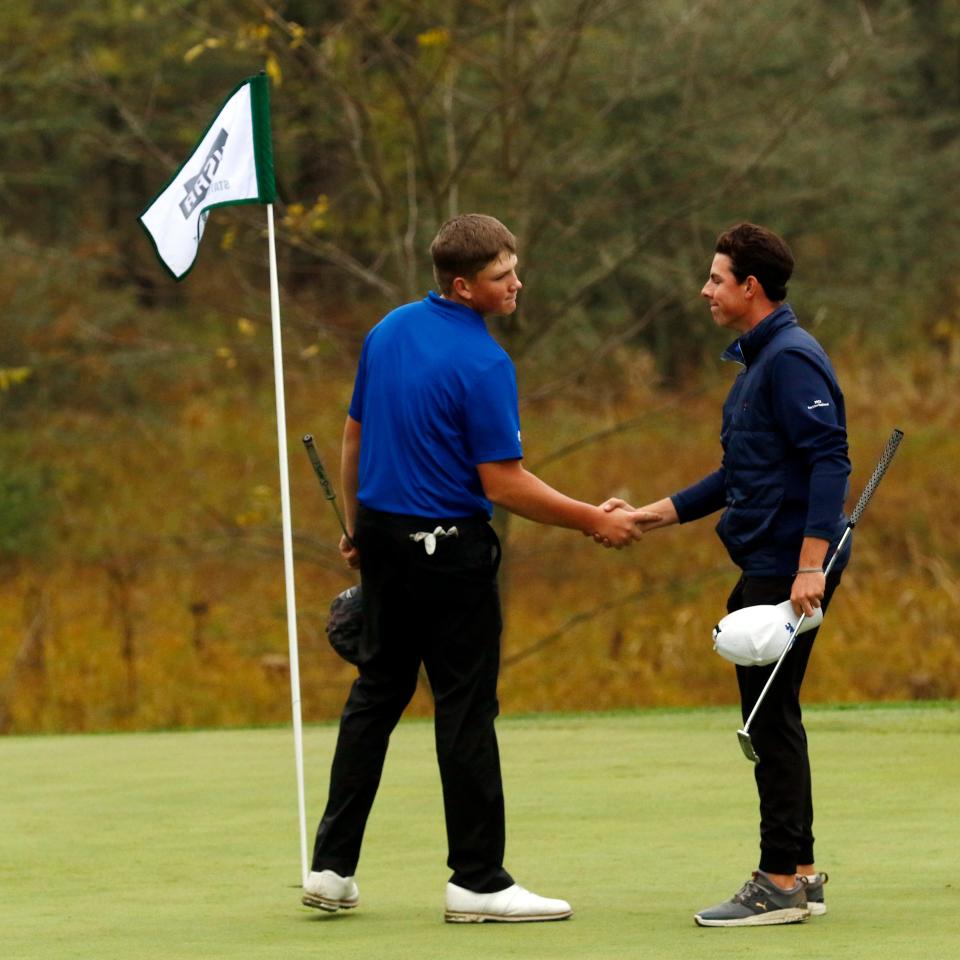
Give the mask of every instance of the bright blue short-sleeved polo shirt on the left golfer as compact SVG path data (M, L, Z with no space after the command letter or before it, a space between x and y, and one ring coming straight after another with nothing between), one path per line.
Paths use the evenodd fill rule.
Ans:
M350 416L373 510L489 517L477 464L523 456L513 361L479 313L433 292L367 334Z

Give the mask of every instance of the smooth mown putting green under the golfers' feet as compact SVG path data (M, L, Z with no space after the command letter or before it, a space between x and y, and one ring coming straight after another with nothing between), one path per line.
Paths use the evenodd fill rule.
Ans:
M0 740L5 960L960 955L960 704L807 711L829 913L702 930L756 861L733 709L502 718L507 866L572 920L448 925L432 727L394 735L361 905L299 904L288 730ZM335 738L305 733L308 829ZM761 954L762 951L762 954Z

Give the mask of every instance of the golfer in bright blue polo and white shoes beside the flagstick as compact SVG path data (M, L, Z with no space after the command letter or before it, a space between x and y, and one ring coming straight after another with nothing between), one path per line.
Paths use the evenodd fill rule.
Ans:
M492 504L618 548L655 515L573 500L524 469L513 363L484 320L516 310L516 249L492 217L448 221L430 248L439 293L393 310L363 345L341 459L352 543L340 544L363 586L360 675L340 721L304 887L308 906L336 911L359 901L354 874L367 816L422 663L435 704L453 871L445 919L571 914L566 901L525 890L503 865Z

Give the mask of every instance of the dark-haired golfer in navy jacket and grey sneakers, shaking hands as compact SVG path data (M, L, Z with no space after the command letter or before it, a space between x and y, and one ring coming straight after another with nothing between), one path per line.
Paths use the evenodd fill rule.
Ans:
M741 576L727 610L790 600L824 610L848 556L824 577L846 528L850 461L843 394L819 343L785 302L793 255L771 230L741 223L717 239L701 295L714 322L738 339L723 359L740 367L723 406L718 470L646 509L645 529L723 510L717 533ZM628 506L610 500L611 509ZM849 543L849 541L848 541ZM845 553L849 553L845 550ZM800 686L817 630L798 636L760 706L750 737L760 795L758 869L733 896L701 910L701 926L794 923L826 912L813 857L813 799ZM743 718L774 665L737 666Z

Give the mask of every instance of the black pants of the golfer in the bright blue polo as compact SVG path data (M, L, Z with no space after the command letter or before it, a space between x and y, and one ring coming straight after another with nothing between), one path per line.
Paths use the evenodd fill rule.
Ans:
M411 534L457 527L430 555ZM423 519L361 508L363 663L340 720L314 870L351 876L360 857L390 733L421 662L433 690L451 882L478 893L513 883L503 869L499 712L500 544L485 518Z

